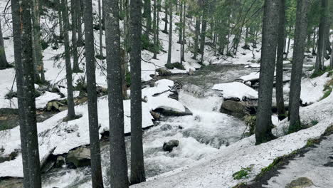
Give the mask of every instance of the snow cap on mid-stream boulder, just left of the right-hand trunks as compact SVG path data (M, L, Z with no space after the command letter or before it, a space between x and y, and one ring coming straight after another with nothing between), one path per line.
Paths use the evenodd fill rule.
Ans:
M243 100L246 97L249 99L258 99L258 91L239 82L216 84L213 86L213 90L221 90L223 98L238 98Z

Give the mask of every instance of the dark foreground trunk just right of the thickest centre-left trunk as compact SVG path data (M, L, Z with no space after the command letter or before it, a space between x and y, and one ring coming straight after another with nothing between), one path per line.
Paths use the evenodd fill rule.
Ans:
M142 0L130 2L131 64L131 184L146 181L142 146L141 33Z

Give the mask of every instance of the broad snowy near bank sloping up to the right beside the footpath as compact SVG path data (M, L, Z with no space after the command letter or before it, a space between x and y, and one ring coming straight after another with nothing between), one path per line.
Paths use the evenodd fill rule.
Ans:
M327 105L330 113L310 105L301 110L302 120L309 120L307 113L320 114L322 119L313 127L279 137L261 145L255 145L254 135L240 140L233 145L223 147L218 153L186 167L147 179L147 182L132 187L233 187L239 182L250 181L267 167L276 157L288 155L304 147L307 140L321 136L333 124L333 95L318 102ZM280 126L279 126L280 127ZM292 144L290 144L292 143ZM246 179L233 179L233 173L242 167L252 170Z

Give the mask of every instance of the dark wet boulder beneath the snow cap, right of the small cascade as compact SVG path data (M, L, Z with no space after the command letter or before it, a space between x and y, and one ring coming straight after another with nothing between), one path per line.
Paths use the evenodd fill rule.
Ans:
M234 100L224 101L221 105L220 112L238 118L243 118L245 115L249 114L245 103Z

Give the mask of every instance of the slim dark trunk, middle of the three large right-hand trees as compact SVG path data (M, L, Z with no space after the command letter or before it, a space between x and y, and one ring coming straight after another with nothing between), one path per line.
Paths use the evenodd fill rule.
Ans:
M285 46L285 0L279 1L279 28L277 36L277 61L276 61L276 105L279 120L286 117L285 100L283 99L283 46Z

